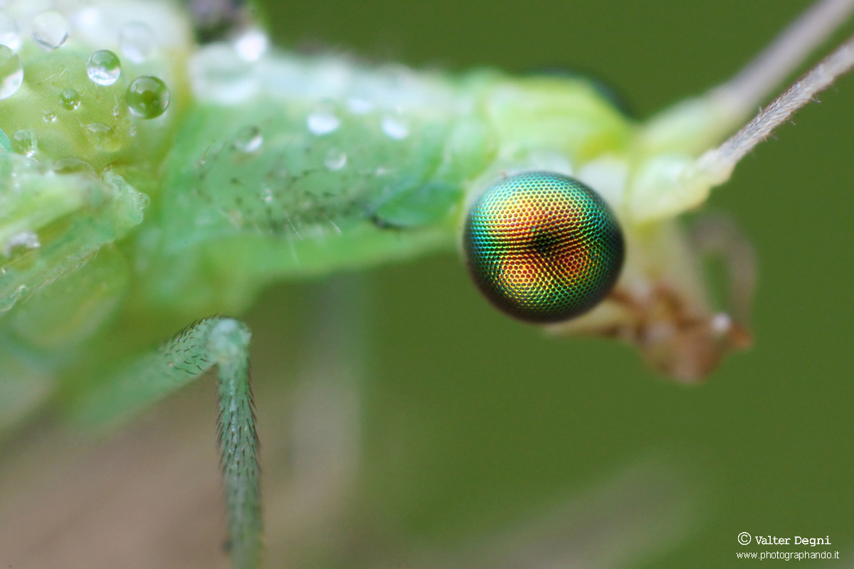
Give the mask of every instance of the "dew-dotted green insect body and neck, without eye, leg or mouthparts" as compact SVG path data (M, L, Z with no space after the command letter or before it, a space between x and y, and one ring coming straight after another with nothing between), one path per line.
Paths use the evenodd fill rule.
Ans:
M85 64L97 49L120 53L114 40L72 33L52 51L25 41L24 82L0 102L3 131L36 141L32 156L0 155L4 337L15 345L4 352L26 352L43 377L22 383L97 377L186 322L240 314L278 279L457 247L483 180L629 148L633 126L581 79L281 53L249 62L227 44L193 52L187 20L163 11L172 43L143 65L122 61L108 86ZM148 75L171 97L153 120L126 97ZM70 110L69 91L80 101ZM16 246L19 235L38 247ZM105 351L117 357L106 364Z

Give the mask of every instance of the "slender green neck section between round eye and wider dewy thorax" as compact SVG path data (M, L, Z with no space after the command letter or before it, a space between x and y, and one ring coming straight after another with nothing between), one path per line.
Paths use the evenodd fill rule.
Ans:
M325 73L325 66L341 62L301 64L309 65ZM319 80L301 71L295 78ZM274 278L455 247L471 181L494 171L497 156L511 154L506 164L524 164L531 152L502 143L501 131L518 126L501 124L512 111L490 108L496 91L512 89L522 97L526 90L552 90L549 95L574 97L586 113L592 109L625 129L587 84L517 85L483 74L430 89L443 78L397 69L348 73L352 77L343 83L352 87L337 97L271 94L258 96L249 109L202 103L190 111L178 132L181 150L167 163L158 228L166 254L155 263L186 266L190 259L190 265L203 262L214 274L190 267L180 282L161 278L176 271L155 270L158 301L186 306L187 292L194 291L190 305L201 313L239 311ZM395 92L398 83L408 83L407 89ZM360 87L390 90L392 96L357 99ZM424 90L438 92L417 95ZM354 113L348 103L372 109ZM556 136L552 145L595 152L595 146L611 142L603 140L610 132L594 128L598 117L587 114L593 116L586 132ZM334 131L314 133L313 120L334 125ZM263 137L260 148L242 149L246 136ZM196 219L192 229L188 215Z

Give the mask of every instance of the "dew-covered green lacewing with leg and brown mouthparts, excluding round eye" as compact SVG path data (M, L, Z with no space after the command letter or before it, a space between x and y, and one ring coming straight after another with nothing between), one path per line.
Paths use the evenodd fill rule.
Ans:
M134 19L115 24L111 9ZM478 192L502 177L576 177L629 220L623 286L556 332L627 338L683 380L746 341L744 299L732 314L709 309L684 270L698 252L670 223L728 177L739 144L718 153L727 160L698 159L749 118L743 91L664 113L639 136L580 79L376 71L259 54L249 32L194 51L184 16L158 5L8 11L31 33L3 54L4 377L15 388L56 380L44 389L63 393L71 415L103 424L218 364L230 511L249 519L232 528L236 566L257 554L257 505L245 498L257 472L237 460L254 445L241 427L251 411L245 386L229 383L245 375L248 331L204 320L138 354L195 318L239 314L266 282L454 247ZM121 61L114 81L102 51ZM727 235L709 231L710 247ZM44 397L20 391L6 416Z

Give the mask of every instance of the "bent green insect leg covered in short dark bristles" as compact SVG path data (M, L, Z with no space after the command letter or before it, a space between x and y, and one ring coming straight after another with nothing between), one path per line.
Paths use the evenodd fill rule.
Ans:
M71 409L79 422L102 426L176 391L216 366L220 465L225 478L231 566L235 569L258 566L260 556L260 472L249 386L250 337L249 328L232 318L196 322L120 370Z

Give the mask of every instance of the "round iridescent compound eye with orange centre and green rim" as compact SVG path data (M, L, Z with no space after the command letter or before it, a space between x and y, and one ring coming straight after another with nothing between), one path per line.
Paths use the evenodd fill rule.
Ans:
M465 222L463 248L477 287L529 322L559 322L598 304L623 266L611 208L571 177L532 171L487 189Z

